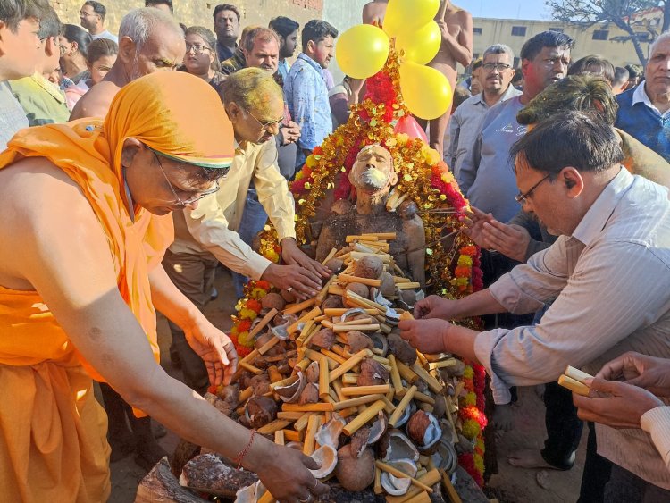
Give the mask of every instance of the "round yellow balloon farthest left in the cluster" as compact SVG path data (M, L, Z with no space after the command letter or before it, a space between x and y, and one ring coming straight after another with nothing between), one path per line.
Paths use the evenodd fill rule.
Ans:
M367 79L384 67L389 37L372 24L359 24L342 33L335 49L339 69L354 79Z

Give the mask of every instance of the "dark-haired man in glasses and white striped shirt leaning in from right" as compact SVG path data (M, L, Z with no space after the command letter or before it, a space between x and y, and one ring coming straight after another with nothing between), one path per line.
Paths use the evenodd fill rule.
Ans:
M416 317L432 319L401 322L403 337L423 352L480 362L497 403L509 401L510 386L554 381L566 365L594 373L628 350L670 357L667 189L627 172L615 130L590 113L557 114L511 153L517 201L557 241L489 289L455 301L420 301ZM556 300L533 326L477 332L447 321L531 313L551 298ZM645 433L599 424L596 432L600 456L670 500L670 472ZM590 459L587 451L585 474ZM604 484L585 482L590 499L582 501L597 500L601 494L593 490Z

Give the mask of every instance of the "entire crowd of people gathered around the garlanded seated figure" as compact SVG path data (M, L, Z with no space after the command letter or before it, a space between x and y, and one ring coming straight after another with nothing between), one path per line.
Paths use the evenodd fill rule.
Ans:
M515 68L502 41L471 61L472 17L442 4L430 64L454 105L423 128L470 201L486 289L419 301L403 337L483 365L498 428L515 386L545 385L544 449L513 465L571 469L586 422L580 501L670 500L670 33L641 69L574 62L574 40L544 31ZM382 25L386 5L363 21ZM110 457L150 469L164 424L276 499L318 498L311 458L202 398L237 363L202 313L219 264L234 298L253 279L302 300L330 277L297 246L289 181L364 80L334 82L326 21L241 29L238 6L219 4L214 29L187 27L172 0L146 0L113 34L105 15L96 0L80 26L46 0L0 4L0 487L13 501L105 500ZM280 264L252 247L268 221ZM184 382L155 365L156 311ZM452 324L471 316L486 330ZM595 376L589 397L557 385L566 365Z

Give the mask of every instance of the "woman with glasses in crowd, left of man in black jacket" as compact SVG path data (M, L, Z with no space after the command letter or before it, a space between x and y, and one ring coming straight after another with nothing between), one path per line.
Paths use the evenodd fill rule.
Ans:
M221 63L216 57L216 38L212 31L202 26L191 26L186 29L184 69L206 80L214 88L225 79L225 75L221 72Z

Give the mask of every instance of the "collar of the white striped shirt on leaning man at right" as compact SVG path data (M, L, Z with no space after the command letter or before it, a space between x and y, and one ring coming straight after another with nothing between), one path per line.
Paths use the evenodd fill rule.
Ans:
M589 246L607 225L609 217L614 212L616 205L619 204L619 200L624 197L624 193L631 186L632 181L632 174L621 166L616 177L607 184L607 187L583 216L572 237L581 241L585 246Z

